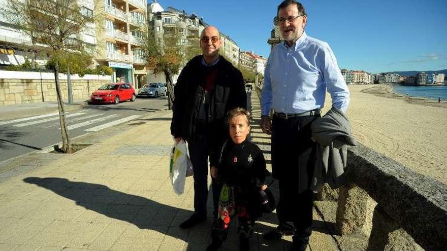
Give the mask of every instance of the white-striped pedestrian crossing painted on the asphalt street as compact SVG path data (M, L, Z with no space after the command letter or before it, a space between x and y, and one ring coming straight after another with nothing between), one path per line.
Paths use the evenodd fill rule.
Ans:
M66 113L67 129L81 129L86 132L95 132L111 126L119 125L131 120L138 119L140 115L125 116L122 114L105 114L98 111L82 110L79 112ZM0 126L22 127L22 128L57 128L60 130L59 113L31 116L27 118L10 121L0 121Z

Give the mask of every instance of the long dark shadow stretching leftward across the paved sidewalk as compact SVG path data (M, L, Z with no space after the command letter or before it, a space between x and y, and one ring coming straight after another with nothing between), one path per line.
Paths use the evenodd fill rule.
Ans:
M112 190L104 185L72 182L66 178L26 177L23 181L51 190L62 197L75 201L77 205L85 209L101 213L109 218L129 222L140 229L150 229L181 239L189 243L187 250L204 249L210 241L210 220L208 220L209 225L201 224L191 230L183 230L178 227L180 222L177 222L175 218L181 216L179 220L185 220L193 213L190 210L180 209L158 203L145 197ZM277 185L277 182L275 182L271 186L272 190L276 190L274 193L277 193ZM208 202L210 202L210 199ZM275 217L272 217L271 214L260 218L259 221L277 224ZM325 222L314 220L313 230L330 234L331 231L325 228L325 224ZM168 231L166 231L166 227L168 227ZM232 226L232 228L235 227L237 228L237 226ZM273 228L267 227L267 229L264 229L269 231ZM267 231L263 232L266 233ZM262 235L263 233L257 234ZM280 243L288 243L288 241L281 240L280 242L271 244L276 246Z

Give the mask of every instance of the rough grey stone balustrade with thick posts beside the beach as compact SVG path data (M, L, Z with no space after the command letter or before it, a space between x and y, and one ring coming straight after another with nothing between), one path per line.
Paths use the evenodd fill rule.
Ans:
M445 250L444 184L359 143L348 150L345 175L350 184L338 189L335 221L342 249Z

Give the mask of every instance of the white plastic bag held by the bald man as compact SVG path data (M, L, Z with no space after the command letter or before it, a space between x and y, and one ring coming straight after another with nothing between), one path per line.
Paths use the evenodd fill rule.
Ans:
M186 143L183 139L171 149L171 161L169 163L169 176L172 188L177 195L183 193L185 189L186 176L193 175L193 165L189 160Z

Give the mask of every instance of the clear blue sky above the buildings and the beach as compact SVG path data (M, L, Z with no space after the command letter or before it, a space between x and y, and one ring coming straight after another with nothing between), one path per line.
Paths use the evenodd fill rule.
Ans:
M147 0L152 3L152 0ZM158 0L268 57L280 0ZM447 0L302 0L307 35L328 42L340 68L369 73L447 69Z

